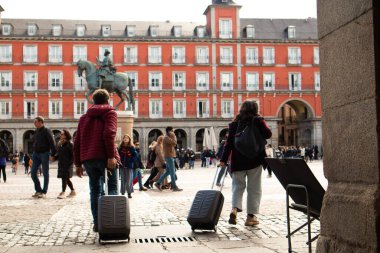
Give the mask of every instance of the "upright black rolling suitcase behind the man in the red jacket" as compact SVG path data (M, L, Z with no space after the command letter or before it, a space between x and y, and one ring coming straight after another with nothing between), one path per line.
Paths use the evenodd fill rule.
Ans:
M119 193L119 170L115 169L114 172L116 172L117 192ZM128 199L124 195L108 195L107 170L104 181L106 195L101 196L98 202L99 243L129 242L131 220Z

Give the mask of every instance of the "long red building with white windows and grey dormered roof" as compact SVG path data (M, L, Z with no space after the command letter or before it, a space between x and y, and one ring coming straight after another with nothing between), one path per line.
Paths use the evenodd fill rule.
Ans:
M31 152L37 115L54 132L75 133L90 106L76 62L95 63L108 49L133 80L142 150L172 125L180 148L201 151L204 128L223 138L247 99L259 103L274 146L320 146L316 20L241 19L241 7L214 0L206 24L3 19L0 138Z

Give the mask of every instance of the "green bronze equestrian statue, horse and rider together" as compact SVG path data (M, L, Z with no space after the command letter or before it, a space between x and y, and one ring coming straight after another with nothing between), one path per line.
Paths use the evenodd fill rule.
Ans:
M86 99L89 103L92 103L92 101L90 101L91 94L97 89L106 89L110 93L116 92L120 97L120 102L115 106L115 109L127 100L127 110L134 110L135 101L133 98L132 82L125 73L116 72L116 68L112 63L109 54L110 51L106 49L103 61L97 59L97 62L100 65L99 69L90 61L79 60L77 62L78 76L82 76L83 71L86 72Z

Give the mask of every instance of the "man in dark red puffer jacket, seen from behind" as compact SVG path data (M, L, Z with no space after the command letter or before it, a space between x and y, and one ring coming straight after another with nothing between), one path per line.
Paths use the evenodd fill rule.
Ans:
M101 193L101 177L109 171L108 192L117 195L115 167L120 158L115 146L117 131L116 111L108 104L109 94L98 89L92 95L94 105L79 119L74 138L74 164L78 177L83 176L84 166L89 178L93 231L98 232L98 199Z

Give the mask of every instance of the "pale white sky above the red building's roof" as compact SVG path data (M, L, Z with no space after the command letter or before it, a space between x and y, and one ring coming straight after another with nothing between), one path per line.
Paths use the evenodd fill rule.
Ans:
M2 18L115 21L192 21L212 0L0 0ZM308 18L317 16L317 0L235 0L241 18Z

